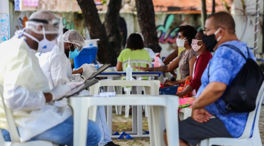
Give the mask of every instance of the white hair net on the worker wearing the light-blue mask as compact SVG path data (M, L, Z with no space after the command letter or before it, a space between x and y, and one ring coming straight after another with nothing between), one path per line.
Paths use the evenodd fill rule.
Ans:
M73 29L68 30L65 34L63 34L63 42L75 44L81 48L85 46L85 42L81 34Z

